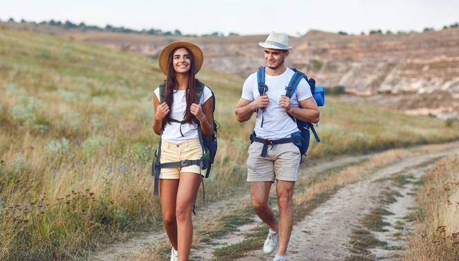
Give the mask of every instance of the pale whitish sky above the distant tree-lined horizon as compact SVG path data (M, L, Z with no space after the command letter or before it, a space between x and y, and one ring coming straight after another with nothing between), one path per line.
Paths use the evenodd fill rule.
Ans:
M0 20L55 21L135 30L180 30L184 35L270 32L301 36L309 30L359 35L459 22L456 0L0 0Z

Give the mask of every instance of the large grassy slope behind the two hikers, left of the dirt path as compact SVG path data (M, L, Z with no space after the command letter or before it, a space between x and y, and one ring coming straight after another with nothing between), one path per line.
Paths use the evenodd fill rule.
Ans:
M150 175L153 90L165 78L157 60L6 28L0 55L0 259L72 260L126 232L161 229ZM234 117L244 79L198 78L216 94L221 124L205 181L212 201L245 184L254 121ZM457 123L332 98L321 118L322 142L306 160L459 136Z

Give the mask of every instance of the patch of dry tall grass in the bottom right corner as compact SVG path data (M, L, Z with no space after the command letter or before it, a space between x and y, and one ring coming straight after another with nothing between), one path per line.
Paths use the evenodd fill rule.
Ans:
M451 154L424 177L416 194L418 228L404 260L459 260L459 155Z

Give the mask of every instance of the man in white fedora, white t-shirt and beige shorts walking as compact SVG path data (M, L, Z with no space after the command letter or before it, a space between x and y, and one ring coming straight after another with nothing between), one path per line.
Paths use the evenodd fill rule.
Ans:
M301 154L294 143L281 143L279 140L290 138L294 132L299 132L297 124L290 116L317 123L319 109L312 98L308 82L304 79L299 82L292 98L285 96L285 87L294 75L294 71L284 65L285 58L292 48L288 46L288 35L271 33L265 42L259 43L259 46L264 48L266 60L265 94L260 96L257 73L252 73L244 82L241 100L234 112L241 123L250 120L256 112L253 133L256 138L249 147L247 181L250 182L250 195L256 215L270 227L263 251L270 254L279 243L274 261L281 261L285 260L292 232L292 197ZM279 141L280 144L275 141ZM273 143L275 145L272 145ZM263 146L268 146L268 150L264 151L265 156L261 155ZM268 205L270 188L275 180L279 222Z

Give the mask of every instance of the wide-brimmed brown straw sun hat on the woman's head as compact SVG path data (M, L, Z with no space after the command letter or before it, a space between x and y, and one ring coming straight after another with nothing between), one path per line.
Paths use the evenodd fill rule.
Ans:
M160 53L160 56L158 57L158 63L160 64L160 69L162 73L167 75L168 72L168 67L169 67L169 55L171 54L172 51L174 51L175 48L177 47L186 47L193 53L194 57L194 73L198 73L200 70L201 66L203 66L203 60L204 60L204 55L203 51L196 46L195 44L191 44L190 42L185 42L185 41L177 41L177 42L171 42L170 44L167 44L165 48L162 48L162 51Z

